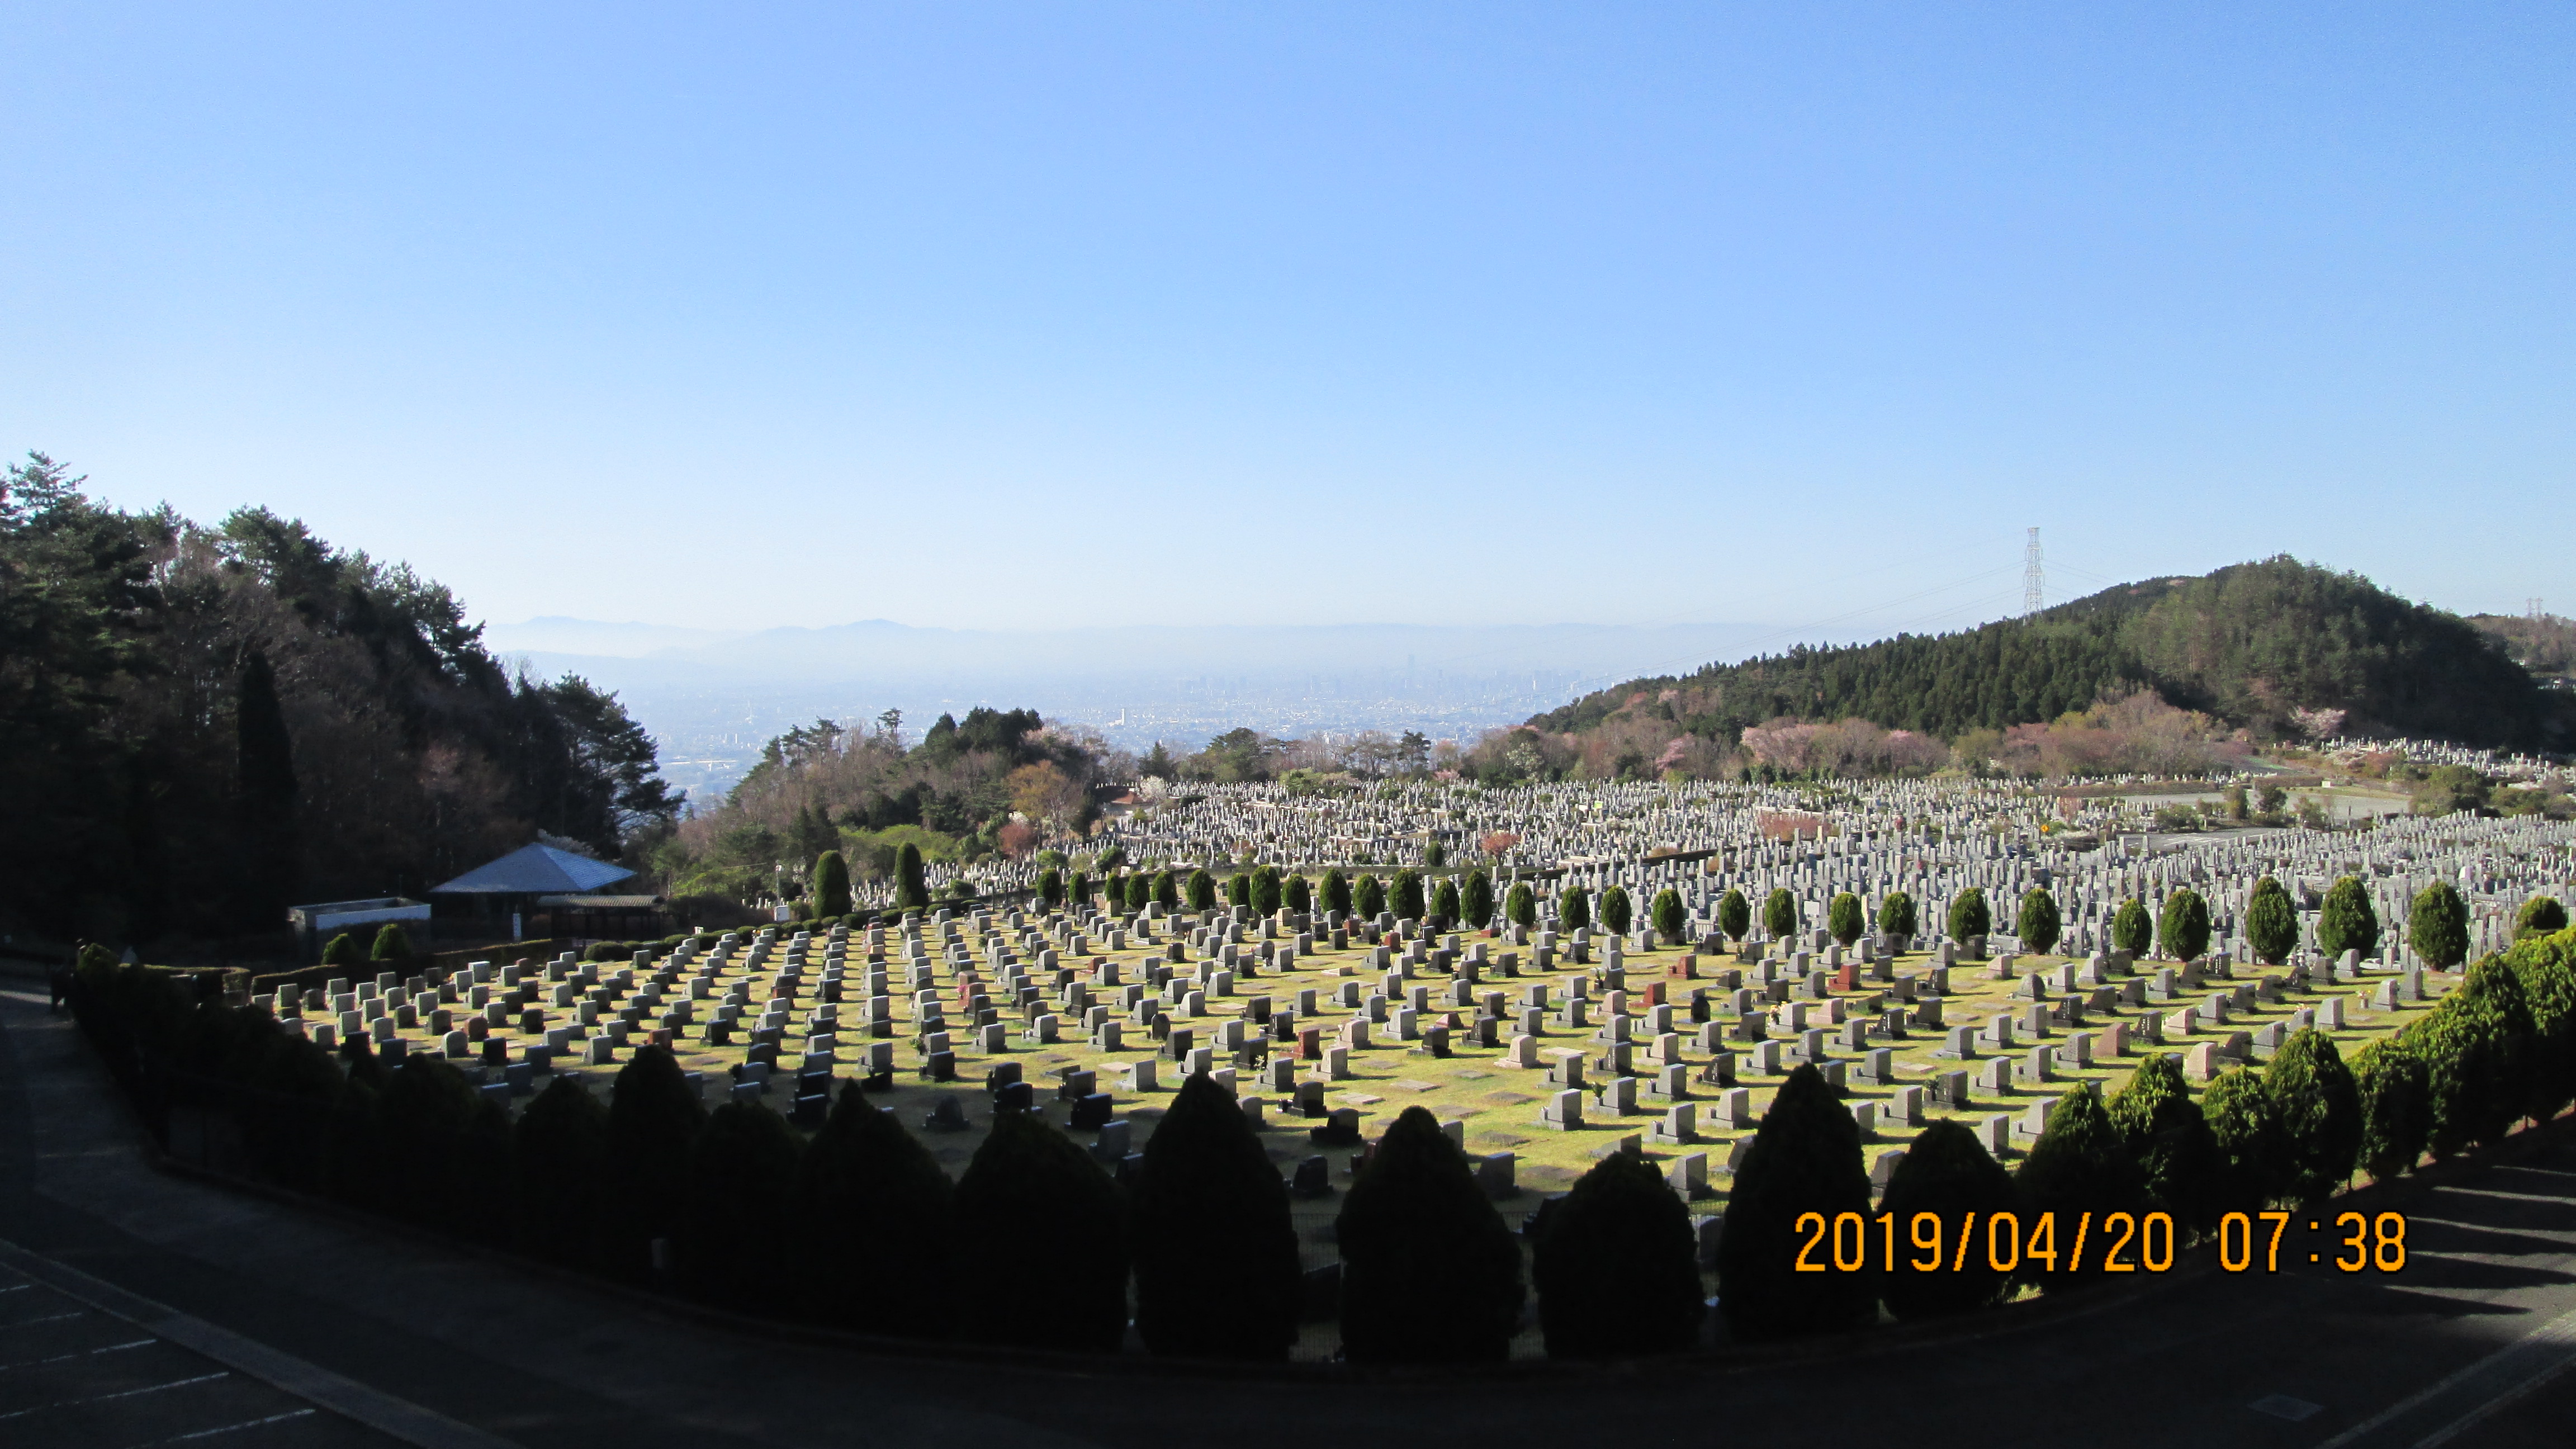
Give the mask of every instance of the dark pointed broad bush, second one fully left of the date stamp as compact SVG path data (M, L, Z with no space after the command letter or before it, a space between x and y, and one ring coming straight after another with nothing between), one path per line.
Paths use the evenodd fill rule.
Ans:
M1352 1364L1507 1359L1520 1245L1440 1122L1406 1106L1334 1220L1342 1351Z

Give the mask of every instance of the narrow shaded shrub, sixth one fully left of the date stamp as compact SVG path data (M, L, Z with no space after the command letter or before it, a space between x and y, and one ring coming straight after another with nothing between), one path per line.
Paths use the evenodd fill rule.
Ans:
M804 1140L760 1101L708 1114L688 1152L688 1201L672 1240L680 1287L737 1312L786 1315L801 1274L778 1261L778 1207L796 1186Z

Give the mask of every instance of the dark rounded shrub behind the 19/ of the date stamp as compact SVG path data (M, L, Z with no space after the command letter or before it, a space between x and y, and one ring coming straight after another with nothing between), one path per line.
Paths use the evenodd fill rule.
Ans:
M1937 1318L2004 1297L2009 1276L1994 1269L1978 1235L1999 1212L2017 1212L2020 1201L2012 1173L1986 1152L1976 1132L1950 1116L1924 1127L1896 1160L1878 1204L1878 1212L1896 1220L1896 1271L1880 1281L1888 1312L1906 1320ZM1917 1227L1927 1212L1940 1220L1937 1232Z

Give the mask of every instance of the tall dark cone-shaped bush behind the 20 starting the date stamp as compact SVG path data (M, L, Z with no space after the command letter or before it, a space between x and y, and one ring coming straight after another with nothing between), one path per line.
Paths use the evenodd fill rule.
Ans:
M1806 1212L1870 1217L1870 1176L1860 1165L1860 1127L1834 1101L1814 1065L1780 1083L1754 1145L1736 1168L1718 1238L1718 1310L1736 1338L1834 1333L1870 1320L1873 1274L1801 1274Z

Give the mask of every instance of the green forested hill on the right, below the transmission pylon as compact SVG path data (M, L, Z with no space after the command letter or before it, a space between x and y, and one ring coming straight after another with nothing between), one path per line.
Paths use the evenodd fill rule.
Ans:
M2545 691L2491 634L2367 578L2290 557L2107 588L1958 634L1801 645L1741 665L1636 678L1530 724L1587 732L1646 694L1682 730L1723 743L1780 717L1862 717L1958 737L2053 719L2138 686L2259 735L2295 732L2295 709L2342 709L2354 732L2499 748L2568 743L2568 699ZM1662 699L1667 691L1672 699Z

